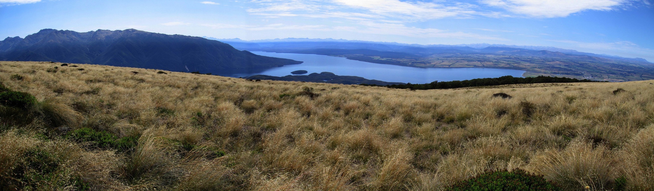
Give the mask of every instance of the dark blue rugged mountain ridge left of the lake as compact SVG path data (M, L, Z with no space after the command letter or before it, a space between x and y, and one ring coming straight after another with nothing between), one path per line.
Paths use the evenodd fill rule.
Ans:
M136 29L86 33L43 29L25 38L7 37L0 41L0 59L128 66L176 72L211 72L302 63L236 50L216 40Z

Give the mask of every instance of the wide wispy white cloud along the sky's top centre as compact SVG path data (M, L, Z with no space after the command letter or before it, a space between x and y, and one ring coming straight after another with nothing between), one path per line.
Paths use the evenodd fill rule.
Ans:
M505 16L498 12L473 10L469 3L426 3L399 0L254 0L256 8L250 14L268 17L302 16L309 18L343 18L347 20L376 20L421 22L439 18L472 18L475 15Z

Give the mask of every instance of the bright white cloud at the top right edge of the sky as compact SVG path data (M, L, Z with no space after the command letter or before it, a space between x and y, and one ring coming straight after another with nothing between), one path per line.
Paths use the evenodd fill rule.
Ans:
M615 10L630 0L481 0L491 7L500 7L536 18L566 17L585 10Z

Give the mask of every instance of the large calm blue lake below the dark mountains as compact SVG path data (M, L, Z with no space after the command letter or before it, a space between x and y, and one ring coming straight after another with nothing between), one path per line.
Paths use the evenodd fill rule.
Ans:
M354 61L344 57L328 55L300 54L300 53L274 53L252 51L258 55L279 57L303 61L300 65L285 65L273 68L256 68L247 70L222 70L212 72L219 76L234 78L254 75L287 76L295 70L313 72L333 72L339 76L360 76L368 80L381 80L391 82L430 83L432 81L470 80L475 78L497 78L500 76L522 77L525 71L496 68L416 68L410 66L383 65ZM301 75L307 75L301 74Z

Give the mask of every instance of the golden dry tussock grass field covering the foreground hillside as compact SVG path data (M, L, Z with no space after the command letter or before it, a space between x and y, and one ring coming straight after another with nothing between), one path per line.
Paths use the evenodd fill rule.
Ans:
M0 106L0 190L442 190L515 168L654 190L652 80L409 91L60 64L0 62L37 99Z

